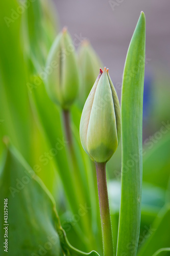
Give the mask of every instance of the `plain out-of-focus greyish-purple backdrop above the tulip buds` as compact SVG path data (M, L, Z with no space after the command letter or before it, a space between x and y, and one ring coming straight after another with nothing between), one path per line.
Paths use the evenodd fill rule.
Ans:
M170 70L170 1L164 0L55 0L60 28L72 37L89 38L114 83L122 81L129 42L140 11L147 22L147 65ZM149 69L149 67L148 67Z

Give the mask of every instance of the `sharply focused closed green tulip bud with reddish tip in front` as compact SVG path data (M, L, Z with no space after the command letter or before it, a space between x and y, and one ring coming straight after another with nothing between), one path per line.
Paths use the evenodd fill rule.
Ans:
M120 105L108 70L100 70L85 102L80 139L85 152L98 163L107 162L120 140Z

